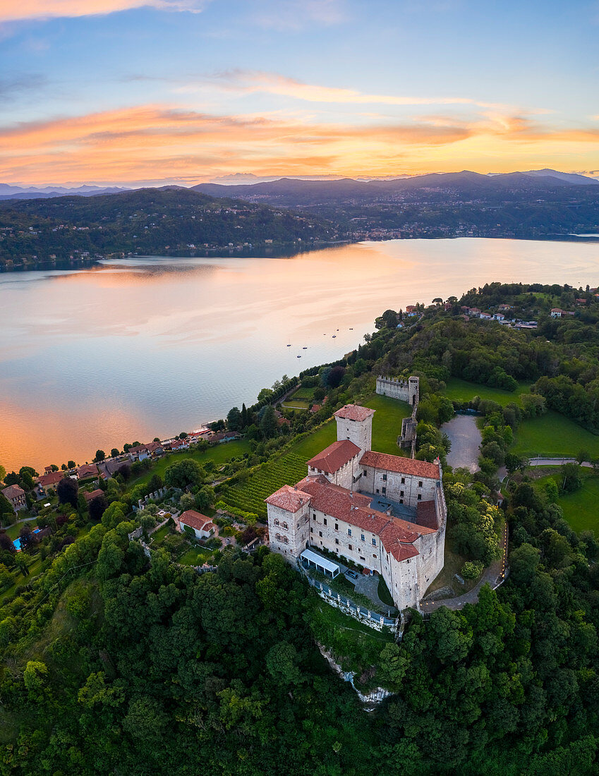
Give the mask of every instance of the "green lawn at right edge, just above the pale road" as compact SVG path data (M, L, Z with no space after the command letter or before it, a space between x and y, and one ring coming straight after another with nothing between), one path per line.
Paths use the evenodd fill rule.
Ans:
M591 457L599 456L599 436L567 417L549 411L521 424L511 452L528 458L538 455L574 458L580 450L587 450Z

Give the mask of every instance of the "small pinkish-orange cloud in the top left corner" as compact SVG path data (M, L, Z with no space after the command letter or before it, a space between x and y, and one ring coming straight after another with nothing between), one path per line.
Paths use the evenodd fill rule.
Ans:
M200 12L206 0L0 0L0 22L52 19L58 16L95 16L142 6L164 11Z

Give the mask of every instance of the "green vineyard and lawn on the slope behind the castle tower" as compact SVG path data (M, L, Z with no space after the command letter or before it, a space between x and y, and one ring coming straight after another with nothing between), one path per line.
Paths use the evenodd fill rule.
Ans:
M402 401L385 396L371 396L362 403L376 410L372 420L372 447L379 452L402 455L397 447L403 417L410 415L410 407ZM265 518L265 498L283 485L295 485L306 476L306 461L324 450L337 439L337 424L329 421L313 434L296 442L282 456L266 462L248 480L223 492L222 499L230 507L253 512Z

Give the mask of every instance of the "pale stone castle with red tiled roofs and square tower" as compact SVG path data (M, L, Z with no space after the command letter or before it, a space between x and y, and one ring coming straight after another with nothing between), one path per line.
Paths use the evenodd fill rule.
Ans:
M307 462L296 486L266 499L270 546L292 563L310 547L345 556L382 575L400 611L419 608L444 563L441 464L373 451L373 415L341 407L338 441Z

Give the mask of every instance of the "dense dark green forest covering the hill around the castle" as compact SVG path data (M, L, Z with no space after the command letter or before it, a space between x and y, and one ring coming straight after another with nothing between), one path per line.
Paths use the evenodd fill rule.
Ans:
M583 309L550 318L570 294L587 300ZM599 542L570 528L556 484L535 487L510 452L518 425L557 401L546 381L594 403L594 299L590 289L493 286L447 310L423 308L403 329L394 325L401 312L385 314L342 362L300 375L303 391L327 393L310 417L280 408L289 422L273 420L268 399L282 396L286 381L230 412L251 450L225 465L230 480L215 497L372 390L379 372L421 376L417 455L427 459L447 451L439 425L456 408L443 395L448 379L507 390L510 380L527 381L519 401L514 391L504 406L475 402L481 471L444 476L448 534L482 564L496 552L499 510L486 498L497 466L514 472L500 515L509 575L497 591L483 587L478 603L459 611L411 611L401 641L371 640L351 656L347 623L331 619L327 632L320 599L265 547L224 549L206 573L173 562L168 548L148 558L129 539L139 518L128 494L142 473L119 475L85 535L2 603L0 774L597 774ZM460 307L475 303L509 304L514 317L534 315L538 329L464 320ZM578 419L576 402L561 411ZM585 423L597 428L593 418ZM168 476L183 468L194 478L185 497L198 499L199 466ZM15 476L26 484L28 474ZM318 641L353 660L358 682L392 695L365 712Z

